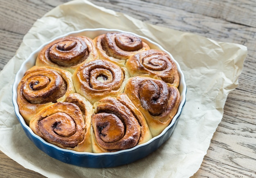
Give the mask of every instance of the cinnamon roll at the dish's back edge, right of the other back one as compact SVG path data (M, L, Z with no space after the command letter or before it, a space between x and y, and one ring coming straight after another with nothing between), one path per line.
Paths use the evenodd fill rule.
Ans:
M106 33L93 39L100 59L106 59L119 66L124 66L126 60L140 51L150 47L139 37L130 33Z

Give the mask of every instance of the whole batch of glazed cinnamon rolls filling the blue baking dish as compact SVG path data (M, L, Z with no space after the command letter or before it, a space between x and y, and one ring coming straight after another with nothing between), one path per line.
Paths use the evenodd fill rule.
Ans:
M63 37L46 45L18 85L20 114L48 143L116 152L146 143L180 104L171 57L130 33Z

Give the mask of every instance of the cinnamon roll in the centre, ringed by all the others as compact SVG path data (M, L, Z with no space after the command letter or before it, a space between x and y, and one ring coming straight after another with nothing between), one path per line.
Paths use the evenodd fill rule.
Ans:
M91 103L122 93L128 77L126 68L101 59L81 65L72 76L76 92Z

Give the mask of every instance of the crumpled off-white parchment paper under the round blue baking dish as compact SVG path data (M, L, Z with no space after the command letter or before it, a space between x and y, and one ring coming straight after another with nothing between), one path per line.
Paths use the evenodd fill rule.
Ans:
M186 78L186 104L173 134L156 152L129 165L92 169L55 160L27 138L14 113L11 87L30 53L54 37L92 28L120 29L150 38L173 55ZM188 178L199 169L207 153L227 95L238 86L246 55L243 45L147 24L87 0L62 4L34 23L0 73L0 150L47 177Z

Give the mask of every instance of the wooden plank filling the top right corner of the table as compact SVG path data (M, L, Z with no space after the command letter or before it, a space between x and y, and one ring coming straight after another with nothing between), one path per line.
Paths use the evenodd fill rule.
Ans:
M246 0L237 2L234 0L146 0L155 4L161 4L186 12L196 13L217 19L223 19L234 24L256 27L256 1ZM245 13L245 9L250 13Z

